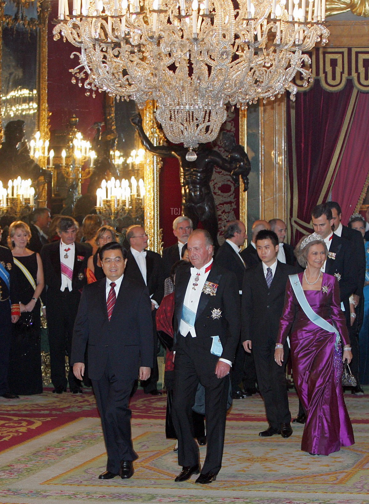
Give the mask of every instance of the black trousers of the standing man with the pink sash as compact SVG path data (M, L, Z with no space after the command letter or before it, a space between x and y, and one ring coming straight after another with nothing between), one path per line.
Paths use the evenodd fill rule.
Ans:
M70 351L73 335L73 325L77 317L81 294L79 291L65 289L48 289L46 295L47 329L50 346L51 382L53 386L66 388L65 355L70 362ZM69 369L68 382L70 389L81 386Z

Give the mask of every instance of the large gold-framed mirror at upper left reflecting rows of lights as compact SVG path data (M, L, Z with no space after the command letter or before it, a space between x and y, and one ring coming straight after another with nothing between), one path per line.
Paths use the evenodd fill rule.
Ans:
M0 7L1 120L25 121L26 140L47 128L47 19L50 3L8 0Z

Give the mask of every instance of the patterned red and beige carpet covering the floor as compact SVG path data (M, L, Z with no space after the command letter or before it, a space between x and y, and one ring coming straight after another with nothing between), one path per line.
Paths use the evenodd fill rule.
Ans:
M366 388L366 392L369 389ZM0 400L0 503L131 502L359 504L369 502L368 397L346 394L356 444L329 457L300 451L302 425L288 439L260 438L260 397L235 401L228 417L223 468L211 485L174 483L174 441L164 431L166 397L138 392L132 408L139 455L130 480L97 479L105 470L101 426L91 393ZM292 415L297 397L290 394ZM4 448L3 448L4 446ZM206 448L200 447L203 461Z

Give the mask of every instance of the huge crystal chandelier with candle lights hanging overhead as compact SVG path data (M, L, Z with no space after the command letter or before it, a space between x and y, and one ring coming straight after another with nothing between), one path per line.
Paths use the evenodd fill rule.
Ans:
M167 138L191 151L216 138L227 103L293 98L297 72L307 85L324 19L325 0L73 0L71 14L59 0L53 34L79 48L70 72L86 94L156 100Z

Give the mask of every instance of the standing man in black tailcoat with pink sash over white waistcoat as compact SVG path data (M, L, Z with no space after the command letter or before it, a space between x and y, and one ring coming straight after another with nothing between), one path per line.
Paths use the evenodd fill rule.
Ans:
M66 391L65 353L70 362L73 324L77 316L82 287L87 283L86 268L89 251L76 243L78 223L72 217L61 217L57 233L60 240L46 243L41 249L46 296L46 318L50 346L53 392ZM70 392L82 393L71 366L68 372Z

